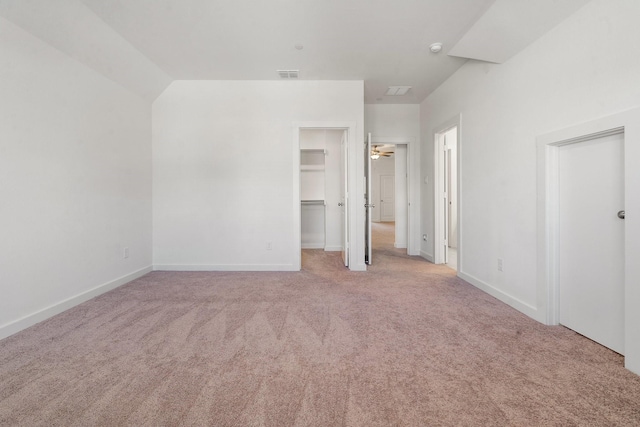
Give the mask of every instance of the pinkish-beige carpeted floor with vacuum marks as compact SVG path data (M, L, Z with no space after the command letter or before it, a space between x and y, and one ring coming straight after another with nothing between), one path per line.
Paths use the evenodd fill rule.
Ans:
M374 265L153 272L0 341L0 424L640 425L640 377L377 224Z

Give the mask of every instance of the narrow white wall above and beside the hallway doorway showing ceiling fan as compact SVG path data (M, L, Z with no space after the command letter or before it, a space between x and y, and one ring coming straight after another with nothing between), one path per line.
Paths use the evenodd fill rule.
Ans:
M420 106L414 104L367 104L364 111L365 133L371 132L374 143L408 144L410 193L408 203L411 203L408 232L411 235L408 236L408 242L396 241L396 245L398 247L406 245L410 255L419 255L422 235L420 230ZM396 179L396 184L398 183ZM396 225L396 234L401 233L404 227L402 224L398 224L397 220Z

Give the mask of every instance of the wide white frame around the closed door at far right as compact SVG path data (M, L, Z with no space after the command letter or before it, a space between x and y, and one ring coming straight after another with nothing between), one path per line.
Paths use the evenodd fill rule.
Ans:
M540 322L558 324L558 147L624 131L625 367L640 374L640 109L592 120L536 138L537 144L537 310ZM597 235L594 235L597 238ZM592 260L593 262L597 260Z

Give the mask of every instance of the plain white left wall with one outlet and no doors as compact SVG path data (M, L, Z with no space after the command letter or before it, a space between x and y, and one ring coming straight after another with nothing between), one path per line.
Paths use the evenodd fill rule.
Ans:
M0 117L4 337L150 268L151 109L0 18Z

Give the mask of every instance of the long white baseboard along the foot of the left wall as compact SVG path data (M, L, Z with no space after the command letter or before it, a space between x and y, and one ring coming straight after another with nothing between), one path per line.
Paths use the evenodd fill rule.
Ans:
M102 295L105 292L113 290L119 286L122 286L126 283L131 282L132 280L142 277L151 271L152 271L151 267L146 267L141 270L134 271L133 273L127 274L126 276L122 276L110 282L96 286L93 289L89 289L88 291L82 292L71 298L67 298L64 301L60 301L47 308L43 308L42 310L36 311L35 313L29 314L27 316L21 317L20 319L6 323L0 326L0 339L6 338L10 335L20 332L21 330L26 329L30 326L33 326L36 323L40 323L43 320L47 320L48 318L53 317L56 314L60 314L63 311L69 310L70 308L75 307L78 304L82 304L85 301L89 301L91 298L95 298L98 295Z

